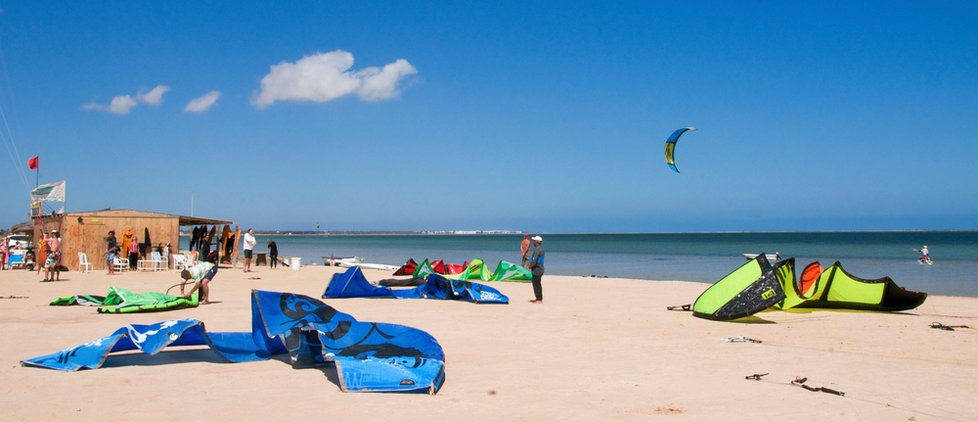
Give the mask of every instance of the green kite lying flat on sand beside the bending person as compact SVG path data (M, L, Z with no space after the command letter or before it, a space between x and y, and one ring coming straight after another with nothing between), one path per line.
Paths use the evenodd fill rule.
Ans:
M196 292L190 295L188 299L166 293L136 293L121 287L109 287L109 294L104 297L95 295L60 297L51 302L51 306L98 306L98 313L100 314L127 314L133 312L158 312L195 308L197 307L197 303Z

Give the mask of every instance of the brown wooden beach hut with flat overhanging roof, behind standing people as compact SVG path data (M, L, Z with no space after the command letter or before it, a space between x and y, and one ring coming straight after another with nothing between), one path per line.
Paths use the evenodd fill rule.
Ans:
M42 224L43 223L43 224ZM180 245L180 227L198 225L235 224L229 220L218 220L185 215L162 214L138 210L112 210L67 212L46 214L34 218L35 243L42 239L41 228L50 232L58 230L61 235L61 264L74 271L78 268L78 253L88 256L94 269L105 269L105 237L110 230L122 244L122 232L134 230L139 242L145 241L144 233L149 233L151 247L157 244L170 244L170 251L177 252ZM149 251L146 252L149 255ZM168 257L169 259L169 257Z

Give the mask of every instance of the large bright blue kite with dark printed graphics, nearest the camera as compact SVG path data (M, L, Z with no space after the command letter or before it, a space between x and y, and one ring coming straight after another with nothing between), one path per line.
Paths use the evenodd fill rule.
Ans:
M113 352L155 355L167 346L208 346L233 363L284 353L294 368L334 363L345 392L435 394L445 382L441 345L416 328L361 322L311 297L260 290L252 290L251 313L250 333L209 333L195 319L131 324L21 365L77 371L101 367Z

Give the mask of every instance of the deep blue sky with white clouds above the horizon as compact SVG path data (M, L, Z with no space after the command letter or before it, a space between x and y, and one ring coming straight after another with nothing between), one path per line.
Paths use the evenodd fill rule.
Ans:
M978 3L811 3L0 1L0 226L978 229Z

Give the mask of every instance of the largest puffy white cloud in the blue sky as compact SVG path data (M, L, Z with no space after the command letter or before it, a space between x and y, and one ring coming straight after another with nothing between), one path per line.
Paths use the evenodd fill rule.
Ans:
M313 54L295 63L279 63L262 78L261 90L251 102L264 108L276 101L322 103L352 94L366 101L387 100L400 93L401 80L418 72L404 59L383 69L350 71L351 67L353 54L343 50Z

